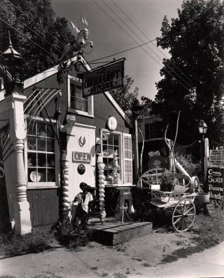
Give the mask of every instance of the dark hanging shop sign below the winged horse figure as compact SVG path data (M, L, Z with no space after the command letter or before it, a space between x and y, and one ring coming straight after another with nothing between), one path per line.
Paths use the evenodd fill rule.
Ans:
M125 58L83 73L84 97L123 87Z

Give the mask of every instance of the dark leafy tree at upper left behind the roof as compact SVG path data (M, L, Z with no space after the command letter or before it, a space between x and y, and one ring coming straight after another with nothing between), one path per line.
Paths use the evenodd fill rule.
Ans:
M25 60L23 79L58 64L73 38L66 18L55 18L51 0L1 0L0 18L0 50L8 48L10 30L12 45Z

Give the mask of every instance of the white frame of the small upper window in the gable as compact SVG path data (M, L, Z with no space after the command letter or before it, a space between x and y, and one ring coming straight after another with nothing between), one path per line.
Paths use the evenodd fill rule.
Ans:
M75 113L77 115L82 115L82 116L88 116L93 118L94 117L94 110L93 110L93 96L88 97L88 112L84 112L81 110L76 110L71 108L71 89L70 89L70 84L71 82L73 84L76 84L78 86L82 87L82 80L77 78L77 77L73 77L72 75L68 75L67 78L67 91L68 91L68 111Z

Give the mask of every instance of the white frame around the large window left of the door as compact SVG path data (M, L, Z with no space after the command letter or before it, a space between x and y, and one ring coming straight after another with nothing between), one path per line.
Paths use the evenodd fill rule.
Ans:
M31 119L30 116L27 116L27 120L29 121ZM42 122L42 123L48 123L51 125L51 122L55 124L55 131L58 132L56 129L56 123L57 121L51 119L51 122L48 118L42 118L42 117L34 117L32 118L34 121ZM25 127L27 127L27 121L25 121ZM31 182L28 181L28 148L27 148L27 136L24 140L24 164L25 164L25 176L26 176L26 186L27 189L40 189L40 188L59 188L60 187L60 151L59 151L59 144L57 141L57 138L55 136L54 138L54 148L55 148L55 181L40 181L40 182ZM34 153L38 153L38 151L34 151ZM40 151L41 153L41 151ZM42 153L47 153L46 151L43 151Z

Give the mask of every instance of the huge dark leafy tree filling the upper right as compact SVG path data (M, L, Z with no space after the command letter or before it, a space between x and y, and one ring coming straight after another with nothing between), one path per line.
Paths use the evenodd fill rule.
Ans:
M177 12L171 23L164 16L157 38L171 58L164 59L155 101L143 100L170 127L175 127L180 110L179 143L197 138L199 120L207 123L210 138L223 142L223 1L186 0Z

